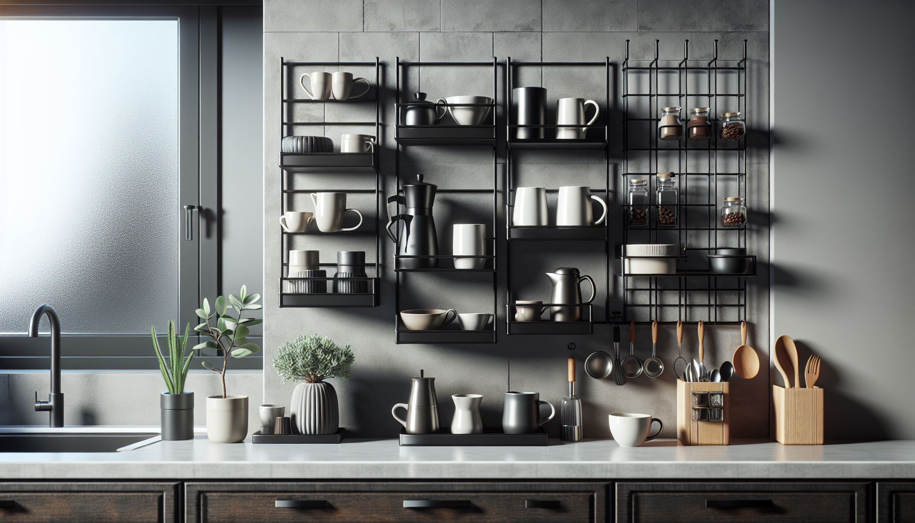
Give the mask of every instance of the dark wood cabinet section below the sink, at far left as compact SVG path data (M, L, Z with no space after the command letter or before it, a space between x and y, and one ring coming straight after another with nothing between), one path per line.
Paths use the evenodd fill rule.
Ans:
M177 483L0 483L0 521L178 523Z

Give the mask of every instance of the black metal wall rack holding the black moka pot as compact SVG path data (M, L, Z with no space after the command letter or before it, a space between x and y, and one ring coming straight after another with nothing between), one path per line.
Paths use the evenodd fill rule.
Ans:
M415 105L414 102L401 102L401 78L402 71L408 67L454 67L454 66L484 66L492 68L492 104L437 104L439 107L490 107L491 124L486 125L401 125L402 114L406 107ZM394 342L395 343L496 343L496 318L497 318L497 267L496 267L496 211L498 206L498 166L496 157L496 94L498 90L498 62L493 57L492 61L470 61L470 62L432 62L432 61L401 61L397 58L396 71L396 103L395 107L395 141L396 148L394 151L394 178L395 188L398 194L402 192L402 178L400 172L400 155L402 147L406 146L484 146L492 147L492 189L437 189L436 193L454 193L454 194L472 194L472 193L491 193L492 194L492 233L493 237L487 237L487 245L491 245L490 254L483 256L458 256L483 258L486 260L484 268L481 269L460 269L454 267L441 268L398 268L397 260L405 258L425 258L438 260L453 260L454 255L436 255L436 256L407 256L399 255L400 252L400 234L402 223L398 222L396 227L396 238L394 243ZM391 202L393 203L393 202ZM395 203L396 204L396 203ZM388 203L390 205L390 203ZM390 209L387 209L390 212ZM398 209L399 213L399 209ZM458 321L451 322L447 327L437 331L411 331L406 328L400 319L400 288L403 284L403 273L405 272L435 272L435 273L488 273L492 278L492 325L491 331L463 331L458 328Z

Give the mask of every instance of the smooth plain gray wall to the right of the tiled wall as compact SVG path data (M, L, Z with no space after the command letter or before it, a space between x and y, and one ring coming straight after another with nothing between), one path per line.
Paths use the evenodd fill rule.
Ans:
M823 357L827 438L915 438L910 136L870 115L906 117L913 15L774 3L772 327Z

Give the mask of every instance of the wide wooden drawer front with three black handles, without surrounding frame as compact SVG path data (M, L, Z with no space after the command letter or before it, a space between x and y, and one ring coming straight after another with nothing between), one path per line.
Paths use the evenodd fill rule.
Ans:
M310 493L210 492L202 496L203 521L321 521L398 523L525 521L591 523L589 493ZM279 503L278 503L279 501ZM277 506L285 507L277 507Z

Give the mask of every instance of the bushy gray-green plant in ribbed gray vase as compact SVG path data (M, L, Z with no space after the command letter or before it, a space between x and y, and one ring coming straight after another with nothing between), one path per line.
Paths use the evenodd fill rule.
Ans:
M299 336L280 348L273 360L276 374L283 383L288 379L301 381L293 390L289 407L293 430L316 435L337 432L337 391L324 380L350 377L354 360L350 345L341 348L318 334Z

